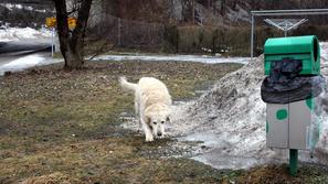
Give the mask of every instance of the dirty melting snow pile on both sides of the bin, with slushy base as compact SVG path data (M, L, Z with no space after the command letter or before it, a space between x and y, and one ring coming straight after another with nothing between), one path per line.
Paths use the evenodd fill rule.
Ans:
M328 44L321 45L321 73L328 79ZM210 147L194 159L214 167L240 169L286 161L286 150L271 150L265 143L265 102L261 99L263 57L220 79L212 90L173 116L171 131L184 140L204 141ZM327 98L327 96L324 96ZM306 151L300 160L328 163L328 116L322 116L322 133L315 158ZM188 136L187 136L188 134Z

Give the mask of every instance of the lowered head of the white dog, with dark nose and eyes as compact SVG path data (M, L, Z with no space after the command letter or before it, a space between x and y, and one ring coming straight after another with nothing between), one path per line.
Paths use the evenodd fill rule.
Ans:
M148 126L156 137L163 137L166 134L166 125L170 122L169 113L151 113L147 117Z

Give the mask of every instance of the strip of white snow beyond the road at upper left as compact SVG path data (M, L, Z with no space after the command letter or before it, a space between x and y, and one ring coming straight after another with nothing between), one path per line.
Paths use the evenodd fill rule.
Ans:
M0 42L51 39L51 31L47 29L34 30L31 28L1 28Z

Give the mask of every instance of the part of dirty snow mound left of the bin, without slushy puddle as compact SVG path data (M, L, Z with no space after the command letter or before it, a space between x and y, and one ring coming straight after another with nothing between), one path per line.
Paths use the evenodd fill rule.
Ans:
M172 131L178 130L174 134L188 134L186 140L204 141L222 156L268 154L268 151L263 152L265 102L260 95L263 78L263 57L226 75L182 112L184 116L174 117L177 127L172 125ZM179 122L186 127L182 131Z

